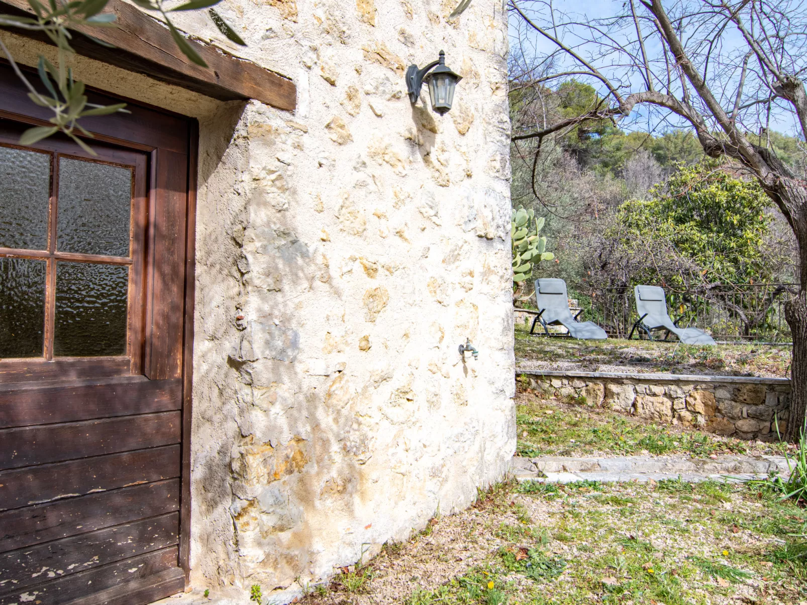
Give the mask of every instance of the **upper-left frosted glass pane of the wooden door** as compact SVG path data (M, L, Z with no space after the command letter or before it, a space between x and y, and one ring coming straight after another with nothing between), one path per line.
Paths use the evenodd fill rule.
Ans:
M48 248L50 156L0 147L0 247Z

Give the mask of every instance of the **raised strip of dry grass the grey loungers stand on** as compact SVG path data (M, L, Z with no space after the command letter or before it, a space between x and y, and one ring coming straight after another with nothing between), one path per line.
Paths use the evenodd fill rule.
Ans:
M789 375L789 345L695 345L650 340L574 340L529 336L516 324L516 364L592 372L665 372L728 376Z

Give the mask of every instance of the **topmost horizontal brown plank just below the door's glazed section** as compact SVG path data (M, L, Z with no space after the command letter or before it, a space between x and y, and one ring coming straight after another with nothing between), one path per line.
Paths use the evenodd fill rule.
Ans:
M75 422L182 408L182 381L144 377L0 385L0 428Z

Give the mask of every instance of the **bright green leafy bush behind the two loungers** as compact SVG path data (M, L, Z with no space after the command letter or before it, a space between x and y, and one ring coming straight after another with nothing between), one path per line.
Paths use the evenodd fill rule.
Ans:
M650 236L672 244L703 268L709 282L762 282L769 277L763 262L763 239L771 223L770 198L756 181L743 181L717 161L678 165L651 199L630 200L620 207L627 244Z

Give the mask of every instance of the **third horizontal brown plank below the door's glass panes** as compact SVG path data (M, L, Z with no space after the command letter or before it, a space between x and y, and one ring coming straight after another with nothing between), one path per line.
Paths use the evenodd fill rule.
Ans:
M0 472L0 511L179 477L180 446Z

